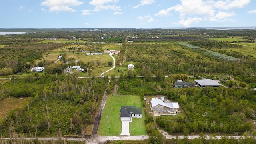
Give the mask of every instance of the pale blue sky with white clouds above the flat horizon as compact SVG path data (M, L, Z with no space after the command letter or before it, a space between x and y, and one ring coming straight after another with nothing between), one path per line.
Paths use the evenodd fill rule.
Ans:
M256 0L0 0L0 28L256 26Z

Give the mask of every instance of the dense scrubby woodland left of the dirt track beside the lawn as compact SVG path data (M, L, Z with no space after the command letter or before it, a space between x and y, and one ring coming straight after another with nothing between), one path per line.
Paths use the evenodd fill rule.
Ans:
M59 128L62 134L85 132L87 125L94 124L107 88L108 79L81 79L76 74L12 79L1 86L1 99L32 96L33 100L6 116L1 134L8 136L15 131L43 136L55 134Z

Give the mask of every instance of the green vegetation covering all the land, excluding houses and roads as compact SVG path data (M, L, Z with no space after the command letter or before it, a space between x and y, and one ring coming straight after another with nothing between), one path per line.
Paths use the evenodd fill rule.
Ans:
M119 110L127 104L144 110L142 119L134 118L130 123L131 135L150 135L141 142L255 143L256 34L253 30L203 31L29 29L30 34L1 35L0 76L8 78L0 80L1 136L90 135L106 92L108 99L98 129L102 136L120 134ZM107 49L120 51L114 55L117 67L98 77L113 66L112 58L109 53L85 53ZM134 64L134 70L128 70L128 64ZM44 72L31 72L36 66L44 67ZM69 73L68 66L81 66L84 71ZM173 87L177 80L202 78L218 80L226 88ZM186 114L153 116L147 111L144 94L162 94L179 102ZM166 140L158 128L168 134L200 137ZM207 140L204 134L212 137ZM222 139L217 140L216 134ZM238 141L225 135L246 139Z

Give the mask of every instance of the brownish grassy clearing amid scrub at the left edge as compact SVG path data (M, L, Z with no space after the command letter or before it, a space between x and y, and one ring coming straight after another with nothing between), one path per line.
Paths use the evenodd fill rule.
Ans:
M29 102L32 97L27 98L4 98L0 100L0 124L4 122L5 114L9 114L9 112L15 108L23 108L26 107L24 102Z

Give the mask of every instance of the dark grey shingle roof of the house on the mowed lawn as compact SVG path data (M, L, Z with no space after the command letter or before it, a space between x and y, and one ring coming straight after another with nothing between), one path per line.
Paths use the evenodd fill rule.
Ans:
M131 114L142 114L142 108L136 106L121 106L120 117L130 117Z

